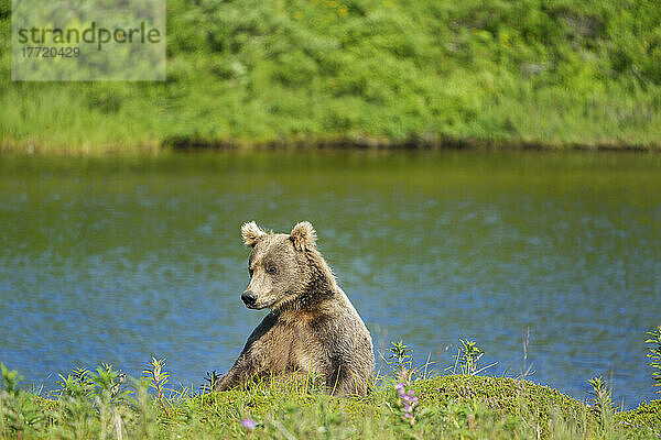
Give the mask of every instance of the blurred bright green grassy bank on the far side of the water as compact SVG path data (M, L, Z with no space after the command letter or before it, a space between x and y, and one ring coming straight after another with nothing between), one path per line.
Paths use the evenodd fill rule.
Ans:
M661 145L653 2L169 0L164 82L12 82L10 3L3 151Z

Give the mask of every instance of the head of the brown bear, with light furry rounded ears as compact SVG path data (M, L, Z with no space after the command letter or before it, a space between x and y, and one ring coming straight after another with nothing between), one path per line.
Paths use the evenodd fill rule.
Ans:
M254 221L241 227L243 243L252 248L250 283L241 299L251 309L304 309L335 289L335 277L316 250L316 233L307 221L292 232L267 233Z

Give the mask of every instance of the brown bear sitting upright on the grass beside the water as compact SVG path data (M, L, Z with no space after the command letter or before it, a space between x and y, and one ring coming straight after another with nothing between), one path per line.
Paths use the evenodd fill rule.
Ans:
M307 221L290 234L241 228L252 248L250 283L241 299L270 312L219 381L225 391L262 376L313 373L332 394L365 395L375 370L372 341L360 316L316 250Z

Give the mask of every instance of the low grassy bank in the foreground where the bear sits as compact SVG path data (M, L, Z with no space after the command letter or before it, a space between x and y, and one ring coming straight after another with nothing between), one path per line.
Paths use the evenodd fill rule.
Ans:
M100 387L104 384L99 385ZM0 438L264 439L658 439L661 400L617 413L528 381L472 375L420 380L404 417L392 384L367 398L332 398L313 387L259 385L247 391L162 398L139 384L130 397L69 387L56 399L0 397ZM121 427L121 428L118 428Z

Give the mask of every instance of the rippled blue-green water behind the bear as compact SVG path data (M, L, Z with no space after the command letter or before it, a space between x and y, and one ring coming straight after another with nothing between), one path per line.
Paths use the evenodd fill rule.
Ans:
M239 228L311 220L377 346L585 398L613 377L654 397L661 158L647 154L218 153L0 156L0 361L36 384L105 361L172 382L226 371L264 312L246 309Z

